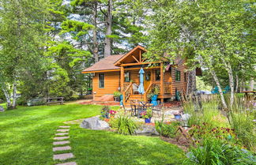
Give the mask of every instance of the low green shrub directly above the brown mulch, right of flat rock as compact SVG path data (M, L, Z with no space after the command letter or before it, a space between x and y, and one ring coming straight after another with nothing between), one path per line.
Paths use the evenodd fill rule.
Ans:
M171 124L166 124L164 122L155 122L156 131L164 137L175 137L175 132L179 127L179 122L171 122Z

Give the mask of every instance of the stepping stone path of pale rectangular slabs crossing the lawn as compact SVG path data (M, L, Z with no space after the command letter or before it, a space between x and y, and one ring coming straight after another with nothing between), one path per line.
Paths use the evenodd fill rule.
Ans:
M65 135L69 135L69 131L70 131L70 126L59 126L60 129L57 129L58 133L55 133L54 137L54 142L53 144L55 145L54 148L52 148L53 152L58 152L58 151L66 151L67 153L62 153L62 154L55 154L53 156L54 160L66 160L66 159L70 159L73 158L73 153L69 152L71 150L71 147L69 145L66 146L56 146L56 145L63 145L63 144L70 144L70 141L62 141L62 140L68 140L70 137L69 136L65 136ZM77 163L75 162L68 162L68 163L60 163L60 164L56 164L56 165L77 165Z

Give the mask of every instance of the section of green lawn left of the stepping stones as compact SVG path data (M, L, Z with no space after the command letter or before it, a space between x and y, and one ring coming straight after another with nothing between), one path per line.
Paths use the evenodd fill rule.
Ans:
M62 122L100 114L99 106L21 107L0 114L0 164L54 164L52 142Z

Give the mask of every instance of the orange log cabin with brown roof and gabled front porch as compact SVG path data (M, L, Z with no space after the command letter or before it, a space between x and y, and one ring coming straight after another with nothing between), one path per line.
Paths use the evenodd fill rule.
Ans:
M92 73L92 95L96 101L113 99L115 91L122 92L123 103L131 99L147 101L152 88L160 88L158 99L161 102L175 98L175 92L186 92L187 73L184 59L176 58L170 62L146 62L144 47L137 46L126 54L111 55L84 69L82 73ZM149 66L150 64L153 66ZM135 92L134 84L140 84L139 70L144 69L143 95ZM106 101L106 100L104 100Z

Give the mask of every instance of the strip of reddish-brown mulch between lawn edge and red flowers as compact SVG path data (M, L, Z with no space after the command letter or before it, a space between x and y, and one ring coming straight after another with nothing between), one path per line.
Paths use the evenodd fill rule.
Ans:
M185 137L180 137L179 141L176 141L175 138L169 138L169 137L160 137L163 141L166 141L171 144L177 145L179 148L181 148L184 152L188 151L188 148L190 148L190 142L186 140Z

